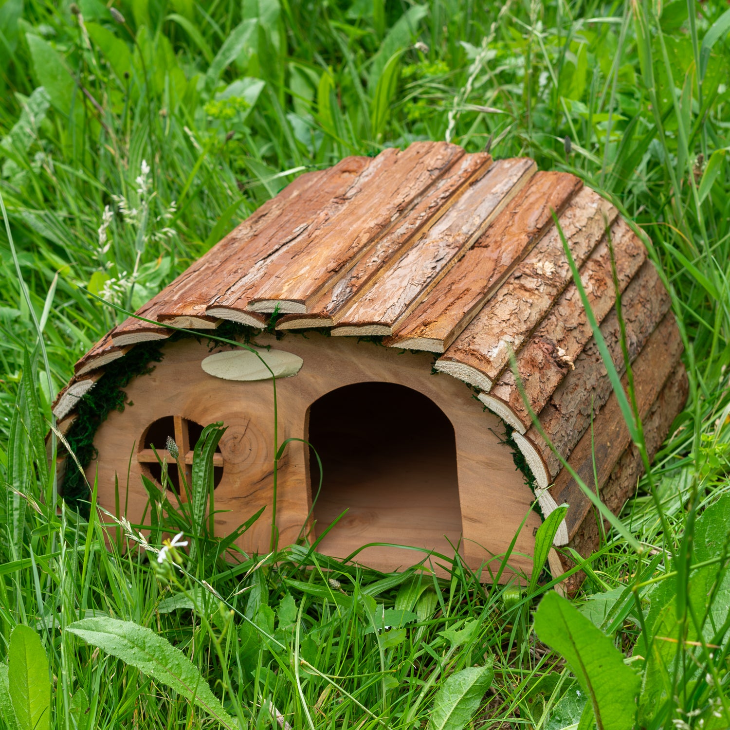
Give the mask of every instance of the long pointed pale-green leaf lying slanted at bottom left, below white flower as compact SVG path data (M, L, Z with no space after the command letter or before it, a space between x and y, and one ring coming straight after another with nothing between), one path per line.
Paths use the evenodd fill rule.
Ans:
M223 710L210 691L199 669L180 649L152 629L116 618L84 618L67 626L66 631L168 686L194 702L223 727L240 730L237 721Z

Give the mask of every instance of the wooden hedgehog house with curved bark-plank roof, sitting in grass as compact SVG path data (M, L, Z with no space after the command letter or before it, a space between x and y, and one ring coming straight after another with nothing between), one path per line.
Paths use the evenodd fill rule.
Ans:
M621 291L653 455L683 407L687 381L669 296L631 228L570 174L418 142L301 175L139 310L153 323L129 318L77 363L54 405L72 444L74 424L85 420L89 430L79 416L95 392L98 413L99 393L115 391L135 353L135 372L152 365L123 379L115 404L126 407L92 423L82 461L91 483L98 475L99 504L110 512L120 504L139 521L147 504L140 475L161 477L153 447L175 482L168 437L188 470L202 427L221 421L215 530L229 534L267 507L269 517L239 544L268 552L272 381L254 353L206 339L218 329L258 348L277 375L278 442L304 439L323 463L313 503L319 471L310 447L294 440L285 448L281 545L302 531L315 539L344 512L321 552L344 558L395 543L453 556L453 545L490 580L496 556L519 533L510 568L529 575L540 512L566 503L556 545L588 553L597 545L596 513L540 432L585 483L597 483L614 512L642 464L553 211L619 372ZM114 387L104 390L112 372ZM539 510L531 510L536 497ZM356 559L393 570L421 557L373 545ZM553 572L565 567L555 551L550 564Z

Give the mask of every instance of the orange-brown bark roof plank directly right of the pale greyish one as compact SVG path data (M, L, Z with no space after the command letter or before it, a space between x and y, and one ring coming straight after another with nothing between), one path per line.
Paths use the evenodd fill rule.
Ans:
M442 353L532 250L583 183L564 172L537 172L429 297L383 344Z

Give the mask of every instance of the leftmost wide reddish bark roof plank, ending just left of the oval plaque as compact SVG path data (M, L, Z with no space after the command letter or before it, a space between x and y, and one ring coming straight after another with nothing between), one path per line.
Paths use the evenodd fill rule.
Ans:
M214 296L244 275L258 258L296 236L299 226L310 225L320 208L344 194L368 164L369 158L350 157L330 169L300 175L150 299L137 314L151 320L208 316L206 308ZM158 334L154 326L134 318L128 318L117 329L118 339L137 331Z

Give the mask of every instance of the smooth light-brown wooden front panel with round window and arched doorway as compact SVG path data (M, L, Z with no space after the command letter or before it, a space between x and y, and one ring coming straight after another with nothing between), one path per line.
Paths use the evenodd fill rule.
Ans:
M490 556L504 553L534 498L523 475L515 469L510 447L501 442L502 423L483 410L464 383L446 374L431 374L433 357L427 353L399 353L390 347L319 334L306 337L290 334L279 341L262 335L257 342L294 353L304 360L299 374L276 383L279 443L288 438L306 438L310 405L344 385L397 383L434 401L450 420L456 436L458 496L464 531L460 553L474 569L489 561ZM87 474L93 482L99 469L101 506L110 512L115 510L116 474L120 504L127 505L128 519L133 523L141 520L147 495L139 478L137 451L144 445L140 439L150 423L169 415L202 426L221 420L228 430L220 441L224 471L215 489L215 509L219 511L216 529L226 534L256 510L266 507L258 523L242 538L241 547L249 552L267 552L275 452L272 383L220 380L205 373L201 361L220 348L209 350L192 339L166 345L164 351L164 360L151 374L138 377L126 388L133 405L128 405L122 413L112 412L96 434L99 460L98 464L90 464ZM383 404L386 416L387 406ZM342 412L347 413L347 403L342 404ZM312 507L308 455L304 444L291 442L280 461L277 492L280 545L297 539ZM418 496L418 484L405 487L402 495L397 484L391 488L394 504L401 497ZM427 501L425 496L424 501ZM372 509L376 514L377 510L388 510L388 503L380 500ZM539 522L537 514L529 514L520 532L510 561L516 570L530 572L532 535ZM418 525L413 523L412 527L410 531L409 523L403 524L402 544L423 541L423 531L418 537ZM306 529L314 534L311 522ZM322 550L345 557L347 553L340 554L345 545L356 540L353 527L347 531L346 520L335 526L323 542ZM369 548L359 559L365 565L390 570L413 564L420 557L420 553L396 548ZM488 575L485 579L488 580Z

